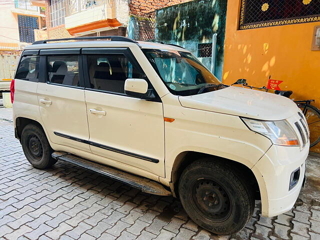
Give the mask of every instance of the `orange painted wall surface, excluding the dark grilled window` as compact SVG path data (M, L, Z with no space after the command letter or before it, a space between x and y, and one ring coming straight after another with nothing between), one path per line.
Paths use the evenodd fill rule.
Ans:
M320 51L311 51L313 28L320 22L237 30L239 0L228 0L222 81L246 78L263 86L282 80L296 100L315 99L320 108ZM311 150L320 152L320 144Z

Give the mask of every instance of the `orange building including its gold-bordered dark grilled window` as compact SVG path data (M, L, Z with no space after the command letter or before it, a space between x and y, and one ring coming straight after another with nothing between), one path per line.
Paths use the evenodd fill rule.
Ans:
M246 78L263 86L270 77L292 98L315 99L320 108L317 27L319 0L228 0L223 83ZM311 150L320 152L320 144Z

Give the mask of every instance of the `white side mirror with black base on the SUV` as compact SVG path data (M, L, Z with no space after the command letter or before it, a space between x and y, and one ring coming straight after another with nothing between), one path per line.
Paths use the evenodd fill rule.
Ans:
M139 97L145 100L155 98L154 90L148 89L148 83L140 78L128 78L124 82L124 93L128 96Z

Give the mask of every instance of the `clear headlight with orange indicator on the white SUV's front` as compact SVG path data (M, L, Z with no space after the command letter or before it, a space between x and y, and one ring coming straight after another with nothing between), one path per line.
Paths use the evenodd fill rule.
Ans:
M250 130L266 136L273 144L282 146L300 145L297 135L286 120L261 121L249 118L241 119Z

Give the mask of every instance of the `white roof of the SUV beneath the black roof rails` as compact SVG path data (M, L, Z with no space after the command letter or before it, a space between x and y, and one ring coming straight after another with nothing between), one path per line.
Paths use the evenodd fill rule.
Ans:
M80 40L80 41L64 41L64 42L54 42L54 43L39 43L31 44L24 47L24 50L29 49L48 49L48 48L79 48L79 47L140 47L148 49L163 49L163 50L178 50L178 51L188 51L182 47L169 45L164 43L156 43L149 41L137 41L127 42L127 41L110 41L110 40Z

